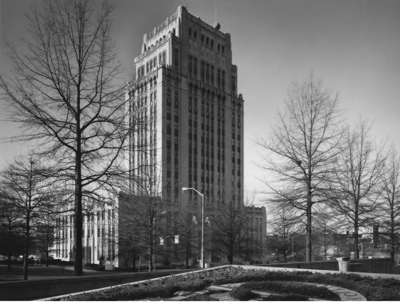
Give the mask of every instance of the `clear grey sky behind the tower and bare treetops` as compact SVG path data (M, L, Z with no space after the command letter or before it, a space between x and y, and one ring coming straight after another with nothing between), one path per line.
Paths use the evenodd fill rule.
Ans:
M10 63L4 39L23 51L24 13L41 0L0 0L0 73ZM244 99L244 191L264 190L258 168L257 137L267 138L286 91L312 71L340 95L350 125L360 117L373 122L378 142L400 150L400 1L398 0L113 0L114 39L129 80L143 34L170 16L179 5L203 21L220 23L229 32L238 92ZM215 13L216 7L216 13ZM4 118L0 98L0 119ZM0 138L17 133L0 122ZM0 143L0 169L25 152L25 145ZM246 194L245 193L245 194ZM256 200L262 203L262 195Z

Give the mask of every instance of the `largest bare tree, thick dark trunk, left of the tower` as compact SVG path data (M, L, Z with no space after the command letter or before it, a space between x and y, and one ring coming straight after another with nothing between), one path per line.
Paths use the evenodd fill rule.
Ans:
M39 142L37 152L53 159L62 184L72 187L75 276L82 275L82 198L112 190L107 185L123 173L131 129L116 83L121 70L110 13L105 1L48 1L42 14L28 16L27 54L10 46L14 73L0 79L9 120L26 129L14 139Z

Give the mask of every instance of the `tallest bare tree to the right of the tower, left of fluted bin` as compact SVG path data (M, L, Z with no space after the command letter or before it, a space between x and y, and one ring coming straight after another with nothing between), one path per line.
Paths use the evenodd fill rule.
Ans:
M277 175L275 185L265 182L283 208L294 207L305 216L306 261L311 261L312 206L324 201L331 163L340 152L341 111L338 96L311 74L293 83L288 91L285 112L272 129L269 140L258 145L268 151L266 170ZM280 187L280 189L277 189Z

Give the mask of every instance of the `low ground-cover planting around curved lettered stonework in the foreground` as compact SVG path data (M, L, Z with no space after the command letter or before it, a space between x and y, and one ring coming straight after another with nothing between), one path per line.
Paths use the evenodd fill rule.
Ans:
M115 301L145 298L170 298L176 292L196 292L210 285L245 283L230 292L237 300L253 298L252 291L275 293L263 300L306 300L316 298L339 300L326 288L312 284L340 287L357 292L368 300L399 301L400 282L395 279L372 279L355 274L319 274L306 271L281 272L241 267L223 267L184 275L176 275L147 281L144 284L129 284L78 295L67 296L62 301ZM187 300L213 300L212 293L194 294Z

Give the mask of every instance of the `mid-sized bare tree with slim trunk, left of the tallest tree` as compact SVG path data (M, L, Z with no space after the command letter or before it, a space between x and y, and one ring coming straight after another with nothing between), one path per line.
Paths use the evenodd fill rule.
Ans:
M26 161L16 160L1 172L1 195L23 221L25 239L23 280L28 277L28 255L31 227L39 219L46 204L52 202L48 192L49 171L30 156Z

